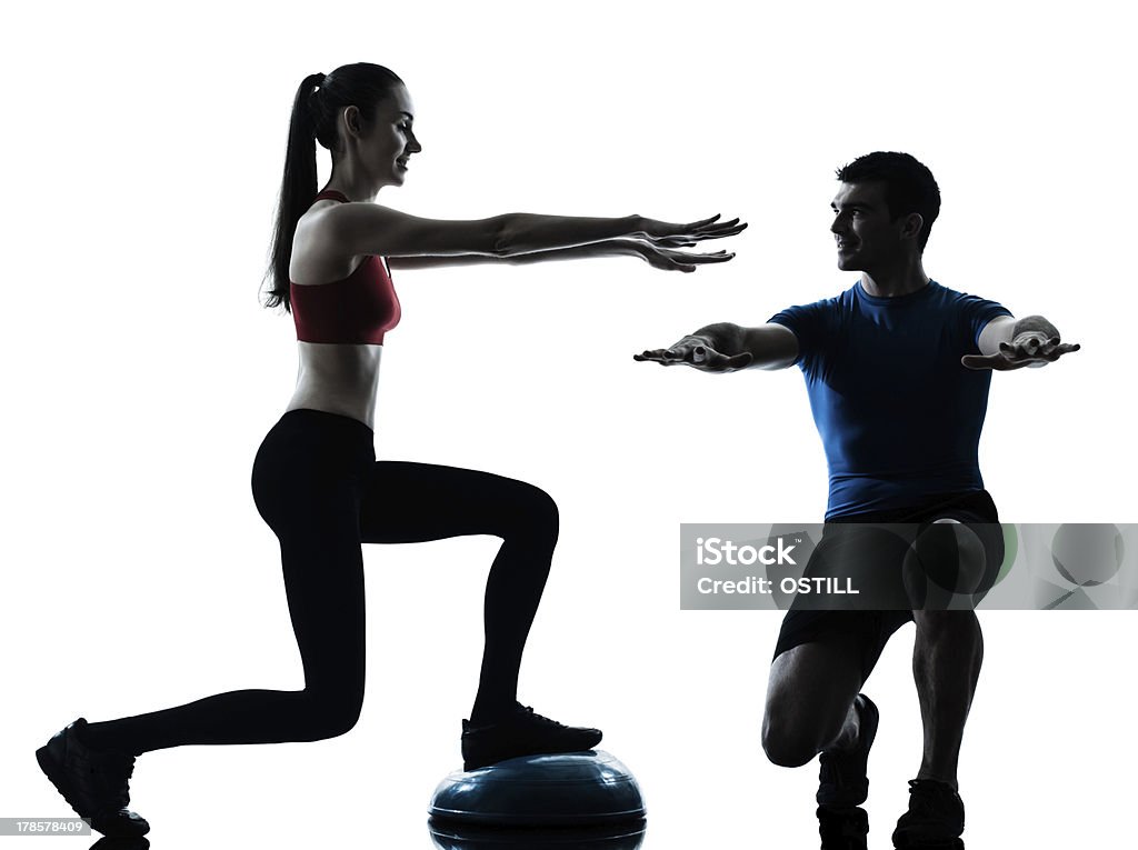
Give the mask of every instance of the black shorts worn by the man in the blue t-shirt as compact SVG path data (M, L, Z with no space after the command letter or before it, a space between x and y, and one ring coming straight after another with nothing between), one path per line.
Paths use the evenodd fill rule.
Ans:
M984 547L986 564L989 570L981 579L976 595L982 596L996 581L996 576L1004 562L1004 536L999 527L996 503L988 490L942 496L935 502L917 507L904 507L892 511L872 511L868 513L836 517L828 520L823 528L823 540L833 526L849 522L871 523L920 523L929 525L937 519L955 519L972 528L980 537ZM840 529L839 529L840 530ZM818 545L815 554L823 550ZM814 555L811 555L811 561ZM806 567L810 572L810 564ZM861 680L868 678L882 650L890 636L913 619L909 610L896 611L824 611L799 610L792 608L783 618L775 644L774 658L786 650L803 643L819 641L855 641L861 650ZM773 659L772 659L773 660Z

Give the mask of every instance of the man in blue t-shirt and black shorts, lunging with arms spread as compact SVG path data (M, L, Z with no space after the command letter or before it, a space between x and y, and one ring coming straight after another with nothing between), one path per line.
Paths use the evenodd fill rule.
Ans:
M1041 316L1016 320L995 302L929 279L922 254L940 190L914 157L868 154L840 168L838 180L831 231L838 267L861 272L851 289L757 328L708 325L635 358L708 372L798 364L830 467L824 540L843 522L965 523L983 539L998 522L976 460L990 370L1045 365L1079 346L1061 343ZM984 550L998 569L1001 542L990 537ZM915 620L924 756L893 843L962 847L956 768L982 658L980 625L971 610L914 606L789 611L770 668L762 746L785 767L820 753L819 817L864 802L879 715L859 692L890 635Z

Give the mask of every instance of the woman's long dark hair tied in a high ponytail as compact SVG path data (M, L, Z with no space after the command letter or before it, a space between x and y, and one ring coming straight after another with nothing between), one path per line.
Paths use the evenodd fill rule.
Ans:
M341 65L331 74L310 74L297 89L292 101L292 118L288 125L288 150L284 154L284 179L277 206L273 231L272 262L265 277L271 281L266 307L289 303L289 261L297 222L316 198L316 142L336 151L340 140L337 122L347 106L360 109L364 122L374 118L376 106L403 81L382 65L356 63Z

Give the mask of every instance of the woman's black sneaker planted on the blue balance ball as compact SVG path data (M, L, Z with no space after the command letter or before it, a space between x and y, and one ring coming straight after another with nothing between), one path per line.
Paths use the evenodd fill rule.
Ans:
M473 726L462 721L463 769L476 770L519 756L582 752L601 742L600 729L564 726L514 703L508 717L493 724Z

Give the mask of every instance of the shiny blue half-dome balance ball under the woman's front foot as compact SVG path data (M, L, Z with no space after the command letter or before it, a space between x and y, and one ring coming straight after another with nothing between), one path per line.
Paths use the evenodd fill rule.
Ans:
M601 828L643 833L644 799L628 768L600 750L523 756L456 770L435 789L432 832Z

